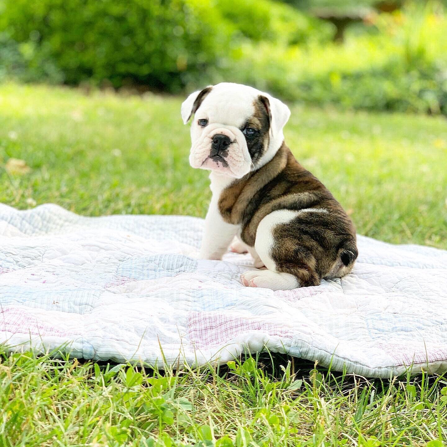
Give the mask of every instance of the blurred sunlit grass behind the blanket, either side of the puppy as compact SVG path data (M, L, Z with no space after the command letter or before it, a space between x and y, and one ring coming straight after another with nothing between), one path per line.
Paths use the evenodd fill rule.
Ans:
M0 86L0 201L55 202L84 215L204 216L207 172L188 164L180 104ZM446 118L291 109L287 143L352 212L359 233L447 248ZM9 157L31 173L8 175Z

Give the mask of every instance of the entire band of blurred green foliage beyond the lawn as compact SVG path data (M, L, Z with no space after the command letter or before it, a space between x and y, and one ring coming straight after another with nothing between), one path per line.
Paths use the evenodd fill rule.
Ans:
M286 100L447 114L443 4L372 3L0 0L0 78L170 93L232 80ZM314 17L328 5L362 13L342 43Z

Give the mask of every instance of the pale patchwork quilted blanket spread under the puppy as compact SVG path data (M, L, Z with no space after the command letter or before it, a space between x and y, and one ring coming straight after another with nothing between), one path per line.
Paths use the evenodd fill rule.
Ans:
M197 258L202 219L0 205L0 342L181 367L265 349L370 377L447 370L447 252L358 236L342 279L244 287L249 255Z

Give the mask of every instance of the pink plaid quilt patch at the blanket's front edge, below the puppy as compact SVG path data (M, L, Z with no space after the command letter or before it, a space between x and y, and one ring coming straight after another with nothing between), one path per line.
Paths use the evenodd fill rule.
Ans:
M188 315L188 335L197 348L224 346L238 335L253 331L281 338L293 337L287 328L262 320L223 312L190 312Z

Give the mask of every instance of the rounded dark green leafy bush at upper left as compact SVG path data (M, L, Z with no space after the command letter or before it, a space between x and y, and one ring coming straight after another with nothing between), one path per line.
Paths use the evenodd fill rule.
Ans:
M4 0L0 29L42 51L67 84L107 80L176 90L214 66L232 29L201 1Z

